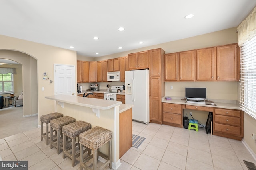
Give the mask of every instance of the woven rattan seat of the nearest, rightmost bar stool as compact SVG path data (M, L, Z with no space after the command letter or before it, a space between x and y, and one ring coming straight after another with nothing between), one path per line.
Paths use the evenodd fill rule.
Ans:
M99 149L110 139L112 139L112 131L98 126L79 135L80 143L92 150Z

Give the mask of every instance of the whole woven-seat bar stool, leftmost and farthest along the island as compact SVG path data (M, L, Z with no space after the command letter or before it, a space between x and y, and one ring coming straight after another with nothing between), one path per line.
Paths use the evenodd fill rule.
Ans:
M63 114L61 113L50 113L50 114L47 114L47 115L42 115L40 117L40 120L41 120L41 141L44 139L46 139L46 145L49 144L49 123L50 123L50 120L53 120L53 119L57 119L59 117L63 117ZM44 133L44 123L46 124L46 133Z

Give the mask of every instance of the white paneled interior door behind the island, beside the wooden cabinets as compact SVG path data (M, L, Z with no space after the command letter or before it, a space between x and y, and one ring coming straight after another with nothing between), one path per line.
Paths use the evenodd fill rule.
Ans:
M74 95L76 92L75 66L54 64L55 94Z

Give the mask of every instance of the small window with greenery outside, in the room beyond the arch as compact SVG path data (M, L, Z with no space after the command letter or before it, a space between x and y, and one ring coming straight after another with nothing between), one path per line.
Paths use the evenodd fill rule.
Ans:
M0 94L14 92L13 84L12 73L0 74Z

